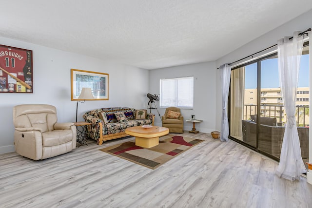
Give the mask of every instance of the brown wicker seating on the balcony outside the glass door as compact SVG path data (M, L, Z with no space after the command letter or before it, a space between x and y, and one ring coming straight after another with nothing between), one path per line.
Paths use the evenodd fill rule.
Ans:
M275 120L274 118L271 119L271 124L276 123L276 118ZM265 120L269 121L269 119ZM257 125L254 121L242 120L243 141L254 147L256 146L256 128ZM301 156L302 158L308 158L309 128L297 127L297 130L300 141ZM260 119L258 149L279 158L281 154L284 132L285 127L262 124Z

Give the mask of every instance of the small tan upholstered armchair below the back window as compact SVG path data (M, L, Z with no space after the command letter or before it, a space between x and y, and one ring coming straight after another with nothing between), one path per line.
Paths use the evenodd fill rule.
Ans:
M162 126L169 128L170 133L183 133L183 116L180 115L178 116L178 118L168 118L169 111L181 113L179 108L176 107L167 108L165 114L161 116Z

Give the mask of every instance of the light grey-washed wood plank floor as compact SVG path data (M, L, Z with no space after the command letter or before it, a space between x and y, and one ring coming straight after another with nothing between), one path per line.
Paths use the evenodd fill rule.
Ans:
M181 134L179 134L181 135ZM33 161L0 155L1 208L311 208L312 185L278 178L277 163L234 141L205 141L151 170L89 141L72 152Z

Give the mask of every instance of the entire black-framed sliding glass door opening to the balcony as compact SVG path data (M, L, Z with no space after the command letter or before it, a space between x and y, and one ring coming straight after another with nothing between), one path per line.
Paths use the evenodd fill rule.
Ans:
M308 160L309 52L305 43L297 89L296 119L301 155ZM229 100L230 137L278 160L286 114L281 95L277 54L232 69Z

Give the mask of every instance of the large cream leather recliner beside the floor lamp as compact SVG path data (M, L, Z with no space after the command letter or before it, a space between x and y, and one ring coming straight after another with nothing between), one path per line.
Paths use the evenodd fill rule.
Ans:
M76 148L74 123L57 123L52 105L27 104L13 109L15 151L33 160L43 160Z

